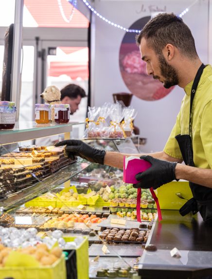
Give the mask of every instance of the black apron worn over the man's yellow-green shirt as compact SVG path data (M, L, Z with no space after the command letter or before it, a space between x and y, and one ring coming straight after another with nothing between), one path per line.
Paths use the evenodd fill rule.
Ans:
M192 148L192 139L190 137L191 134L191 111L192 111L192 104L194 101L194 95L196 88L198 86L200 77L202 75L202 72L205 68L205 65L202 64L199 68L199 70L196 73L196 76L194 78L194 83L192 86L191 91L191 102L190 102L190 116L189 116L189 135L178 135L176 136L176 140L179 145L179 149L181 151L183 160L186 165L188 166L194 166L194 160L193 160L193 148ZM198 184L195 184L193 182L189 182L189 186L191 188L191 191L193 193L193 198L187 201L184 206L179 209L179 213L184 216L188 214L189 212L192 212L193 214L200 212L203 220L207 223L212 223L212 189L201 186Z

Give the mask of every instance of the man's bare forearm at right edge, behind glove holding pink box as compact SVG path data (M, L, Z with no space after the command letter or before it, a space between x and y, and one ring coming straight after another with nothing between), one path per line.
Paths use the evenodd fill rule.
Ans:
M177 164L175 169L177 179L185 179L190 182L212 188L212 170L190 167Z

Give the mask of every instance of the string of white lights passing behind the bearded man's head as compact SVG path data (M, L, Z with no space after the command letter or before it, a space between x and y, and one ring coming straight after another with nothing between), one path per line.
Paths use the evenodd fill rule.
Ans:
M108 20L106 17L103 17L102 15L100 15L90 4L87 0L82 0L86 6L88 7L88 9L90 9L90 11L92 13L94 13L97 17L101 18L103 21L105 21L106 23L112 25L113 27L119 28L121 30L124 30L125 32L132 32L132 33L140 33L141 30L136 30L136 29L128 29L125 28L123 26L121 26L120 24L114 23L110 20ZM181 12L178 17L182 17L184 16L186 13L188 13L189 9L197 2L198 0L194 1L193 4L191 4L188 8L186 8L183 12Z

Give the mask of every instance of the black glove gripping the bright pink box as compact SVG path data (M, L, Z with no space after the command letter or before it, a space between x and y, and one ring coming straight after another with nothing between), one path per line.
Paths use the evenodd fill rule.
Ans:
M175 177L177 162L167 162L148 155L141 156L140 159L150 162L152 166L145 172L136 174L136 179L141 182L133 184L134 188L157 189L163 184L177 180Z

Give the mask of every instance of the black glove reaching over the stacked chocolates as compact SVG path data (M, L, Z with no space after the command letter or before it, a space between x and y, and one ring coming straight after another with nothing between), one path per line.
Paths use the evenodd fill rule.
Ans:
M58 147L63 145L66 145L64 150L65 156L72 160L75 159L75 156L79 156L92 163L104 165L105 150L93 148L82 140L63 140L57 142L54 146Z

